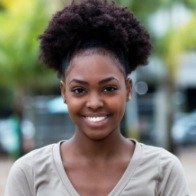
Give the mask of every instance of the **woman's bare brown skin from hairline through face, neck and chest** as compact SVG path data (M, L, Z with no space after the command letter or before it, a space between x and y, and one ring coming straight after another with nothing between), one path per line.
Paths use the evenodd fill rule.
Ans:
M134 152L134 143L120 133L131 81L111 57L84 52L73 57L61 93L76 124L74 136L61 145L65 171L80 195L108 195Z

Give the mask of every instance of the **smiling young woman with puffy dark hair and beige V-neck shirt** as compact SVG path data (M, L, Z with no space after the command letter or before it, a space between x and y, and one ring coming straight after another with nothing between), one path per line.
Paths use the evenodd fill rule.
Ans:
M151 50L133 14L105 0L73 2L40 40L42 61L61 77L75 134L17 160L6 196L187 196L174 155L121 135L128 75Z

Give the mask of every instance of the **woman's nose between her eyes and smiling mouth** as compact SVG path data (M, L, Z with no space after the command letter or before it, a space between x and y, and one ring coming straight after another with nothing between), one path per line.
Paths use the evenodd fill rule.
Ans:
M103 100L97 93L89 95L86 106L90 109L96 110L103 107Z

